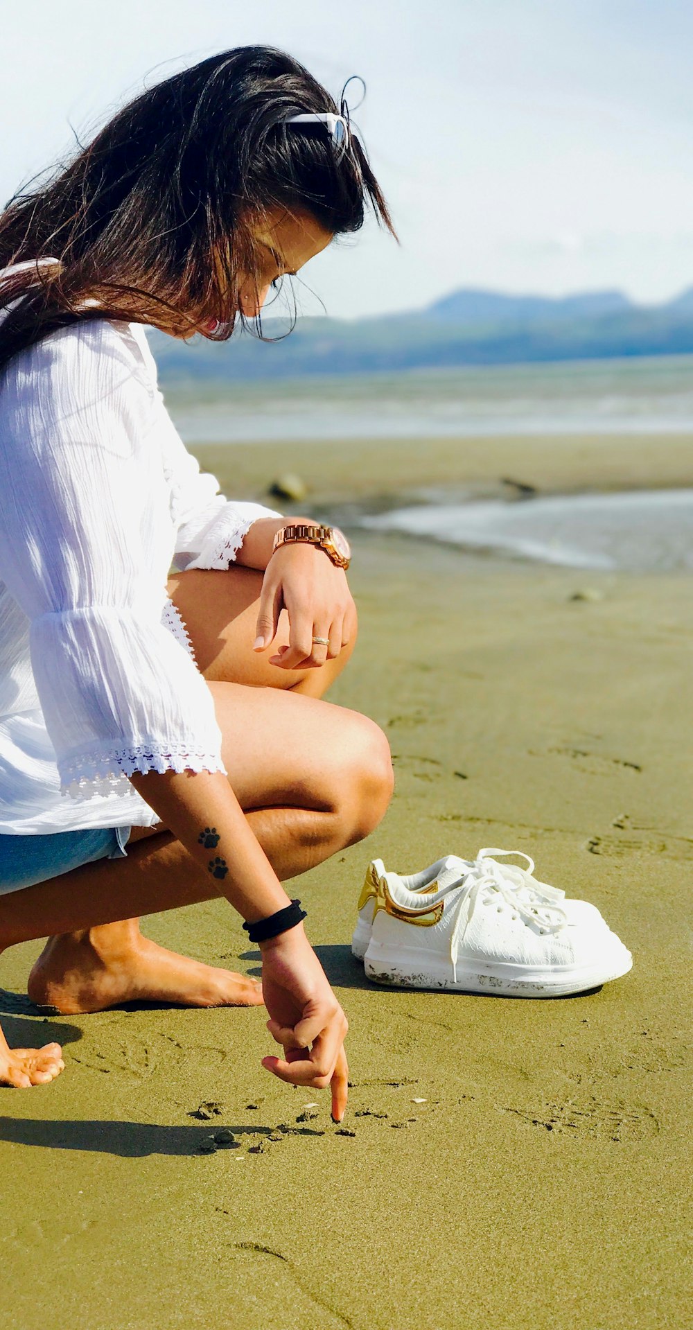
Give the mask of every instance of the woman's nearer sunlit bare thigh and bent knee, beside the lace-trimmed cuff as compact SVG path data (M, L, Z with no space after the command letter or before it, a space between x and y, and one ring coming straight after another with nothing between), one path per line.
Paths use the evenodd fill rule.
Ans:
M391 794L390 747L359 712L275 688L211 681L222 759L241 807L337 811ZM380 814L382 815L382 814ZM133 827L132 841L162 830Z

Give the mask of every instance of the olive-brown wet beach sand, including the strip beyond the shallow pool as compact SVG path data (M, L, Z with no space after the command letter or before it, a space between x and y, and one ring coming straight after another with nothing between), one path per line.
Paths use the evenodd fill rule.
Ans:
M227 492L259 495L291 469L315 504L504 475L568 489L690 483L690 440L348 451L291 448L290 464L279 448L200 454ZM351 581L359 646L331 696L387 732L396 794L368 842L294 888L350 1017L354 1134L337 1132L325 1095L262 1071L262 1009L44 1020L21 996L40 944L7 952L11 1040L59 1039L67 1060L53 1087L1 1096L8 1326L686 1323L690 581L370 533ZM585 591L601 598L572 598ZM593 900L632 972L552 1001L364 980L348 939L368 858L411 870L480 846L521 849L544 880ZM225 903L145 931L257 970ZM310 1101L318 1116L298 1121ZM200 1116L202 1104L218 1111ZM225 1128L234 1144L200 1149Z

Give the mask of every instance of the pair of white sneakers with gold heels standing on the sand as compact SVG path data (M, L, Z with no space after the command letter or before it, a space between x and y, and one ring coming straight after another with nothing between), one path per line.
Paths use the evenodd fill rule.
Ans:
M533 862L523 855L524 870L492 858L511 853L480 850L456 878L440 861L439 879L450 880L432 891L411 890L386 872L363 958L367 976L406 988L555 998L625 975L630 952L601 916L597 927L572 920L564 894L545 883L531 888L532 903L524 876Z

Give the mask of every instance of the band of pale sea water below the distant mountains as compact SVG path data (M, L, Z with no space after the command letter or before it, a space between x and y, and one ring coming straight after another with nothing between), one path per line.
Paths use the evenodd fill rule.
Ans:
M186 443L693 432L693 356L165 386Z

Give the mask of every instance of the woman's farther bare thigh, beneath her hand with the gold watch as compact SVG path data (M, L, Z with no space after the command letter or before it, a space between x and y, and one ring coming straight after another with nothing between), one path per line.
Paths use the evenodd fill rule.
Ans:
M253 688L282 688L321 697L345 668L354 642L317 669L286 670L270 665L281 645L289 641L289 617L279 614L271 649L253 650L262 573L254 568L192 568L173 573L168 593L190 634L200 670L208 681L247 684Z

